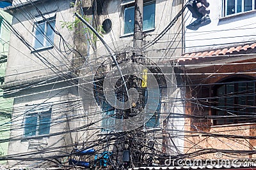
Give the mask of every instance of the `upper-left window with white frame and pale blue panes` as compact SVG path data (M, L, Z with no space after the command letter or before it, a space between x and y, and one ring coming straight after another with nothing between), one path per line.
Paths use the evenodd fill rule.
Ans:
M35 49L47 48L54 44L56 13L36 18Z

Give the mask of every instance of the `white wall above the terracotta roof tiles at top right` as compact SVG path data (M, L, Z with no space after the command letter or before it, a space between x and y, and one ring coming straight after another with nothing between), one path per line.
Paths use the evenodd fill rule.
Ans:
M250 44L247 41L255 40L256 36L253 34L256 26L255 10L223 17L224 1L207 1L210 3L211 24L200 27L197 31L186 29L186 52L200 52L234 46L234 44ZM189 12L185 20L185 25L189 25L192 20Z

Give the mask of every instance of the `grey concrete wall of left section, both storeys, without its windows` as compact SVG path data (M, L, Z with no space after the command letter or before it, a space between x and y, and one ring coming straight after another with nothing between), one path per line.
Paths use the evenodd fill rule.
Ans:
M63 3L65 2L65 3ZM49 80L51 76L63 75L63 73L72 72L74 69L74 53L64 52L69 48L76 48L74 40L75 29L70 31L67 27L62 27L63 22L74 21L74 11L76 7L70 6L73 1L47 1L47 3L35 3L36 7L42 13L56 11L56 29L67 44L60 44L60 36L54 34L54 48L40 51L29 50L29 48L18 39L15 34L11 35L10 48L8 54L8 65L6 69L6 90L17 84L35 83L36 78ZM15 1L13 3L16 3ZM13 10L12 25L20 35L33 46L35 36L35 18L39 15L35 6L24 7L19 10ZM61 40L62 41L62 40ZM62 52L60 52L61 50ZM61 77L61 76L60 76ZM67 78L67 77L65 77ZM12 84L14 83L14 84ZM47 84L50 83L50 84ZM31 168L31 167L50 167L56 166L52 162L45 161L44 157L63 155L70 153L74 148L76 141L83 141L84 132L77 129L76 132L70 132L76 128L82 128L84 125L83 108L79 101L76 87L72 87L75 81L63 81L57 78L54 82L49 81L39 87L30 87L22 89L12 95L14 97L12 114L12 131L9 143L8 155L29 153L28 159L38 161L8 160L10 167ZM31 84L30 84L31 85ZM24 136L24 121L26 108L36 104L52 103L51 129L49 136L37 136L33 139L27 139ZM78 118L76 118L78 117ZM74 119L76 118L76 120ZM79 131L80 130L80 131ZM56 134L57 133L57 134ZM58 134L60 133L60 134ZM34 136L35 137L35 136ZM67 146L68 145L68 146ZM52 149L54 148L54 149ZM47 153L49 149L50 152ZM33 154L31 154L31 152ZM17 159L22 157L17 156ZM64 161L64 159L60 159ZM65 160L66 161L66 160Z

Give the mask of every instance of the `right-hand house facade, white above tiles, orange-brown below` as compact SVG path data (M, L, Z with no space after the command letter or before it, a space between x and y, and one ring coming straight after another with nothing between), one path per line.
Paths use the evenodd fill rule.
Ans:
M188 157L255 157L255 1L211 1L211 24L185 33ZM188 25L191 16L185 25ZM221 157L220 157L221 155Z

